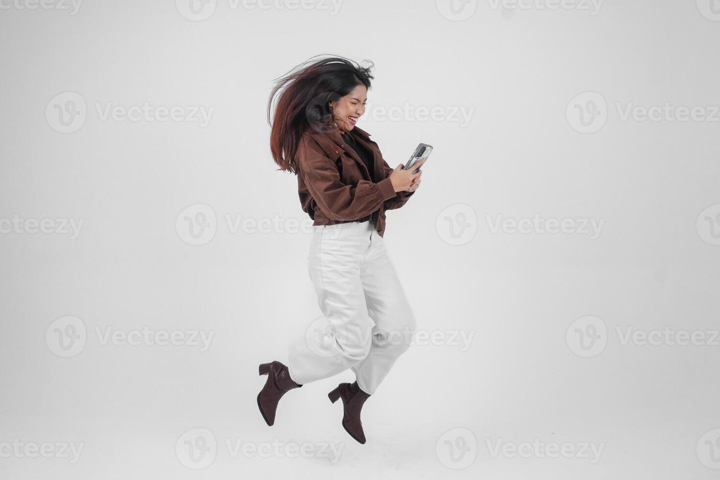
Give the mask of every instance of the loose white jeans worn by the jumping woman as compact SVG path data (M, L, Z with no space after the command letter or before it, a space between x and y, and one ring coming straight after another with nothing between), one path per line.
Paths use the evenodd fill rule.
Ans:
M374 394L408 350L415 316L372 222L312 228L308 272L323 317L289 346L290 377L307 384L352 368Z

